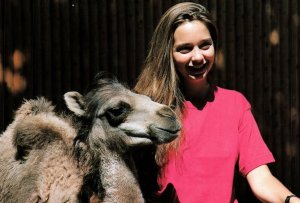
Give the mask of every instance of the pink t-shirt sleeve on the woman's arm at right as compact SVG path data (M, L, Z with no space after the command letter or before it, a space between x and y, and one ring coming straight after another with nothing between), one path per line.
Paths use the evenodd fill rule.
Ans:
M251 170L275 160L261 136L249 102L244 97L241 102L243 109L238 126L239 170L246 176Z

